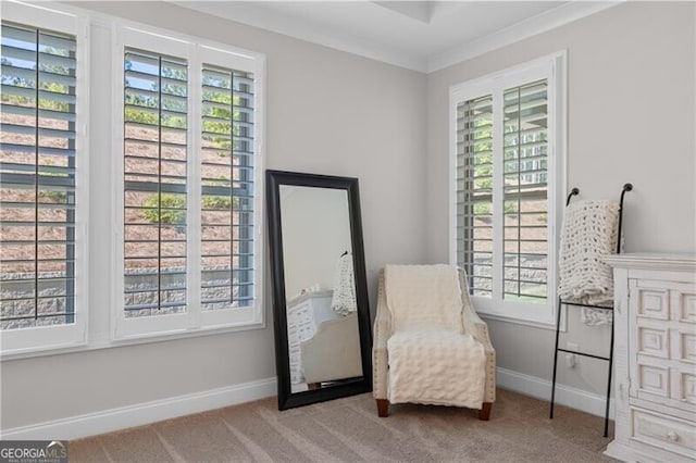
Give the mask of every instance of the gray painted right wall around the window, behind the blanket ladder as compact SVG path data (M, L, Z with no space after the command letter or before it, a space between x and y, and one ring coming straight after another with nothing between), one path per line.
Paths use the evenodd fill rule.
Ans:
M629 2L432 73L427 80L430 262L448 260L449 87L568 50L568 189L617 198L625 182L626 251L696 251L693 2ZM581 349L609 342L571 314ZM579 326L580 325L580 326ZM489 322L498 366L549 379L554 331ZM582 359L560 381L604 395L606 364Z

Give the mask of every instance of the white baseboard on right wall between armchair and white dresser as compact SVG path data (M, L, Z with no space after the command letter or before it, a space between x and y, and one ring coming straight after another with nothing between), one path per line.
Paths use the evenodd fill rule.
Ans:
M496 384L514 392L546 401L551 400L551 381L524 375L511 370L496 368ZM605 396L587 392L556 383L555 403L570 406L597 416L605 416ZM609 402L609 417L613 418L613 401Z

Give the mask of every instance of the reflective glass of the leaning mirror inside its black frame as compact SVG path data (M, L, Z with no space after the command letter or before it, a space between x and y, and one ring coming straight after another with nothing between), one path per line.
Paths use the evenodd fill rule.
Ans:
M363 376L348 191L279 185L290 392Z

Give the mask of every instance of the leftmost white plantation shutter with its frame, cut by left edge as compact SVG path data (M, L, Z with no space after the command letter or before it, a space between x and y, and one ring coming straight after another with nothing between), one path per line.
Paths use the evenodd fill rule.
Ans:
M22 353L85 341L86 23L3 3L0 342Z

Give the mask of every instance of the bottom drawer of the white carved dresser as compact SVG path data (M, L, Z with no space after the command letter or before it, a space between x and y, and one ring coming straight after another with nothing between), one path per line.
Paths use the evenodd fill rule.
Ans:
M696 424L633 409L633 438L684 456L696 454Z

